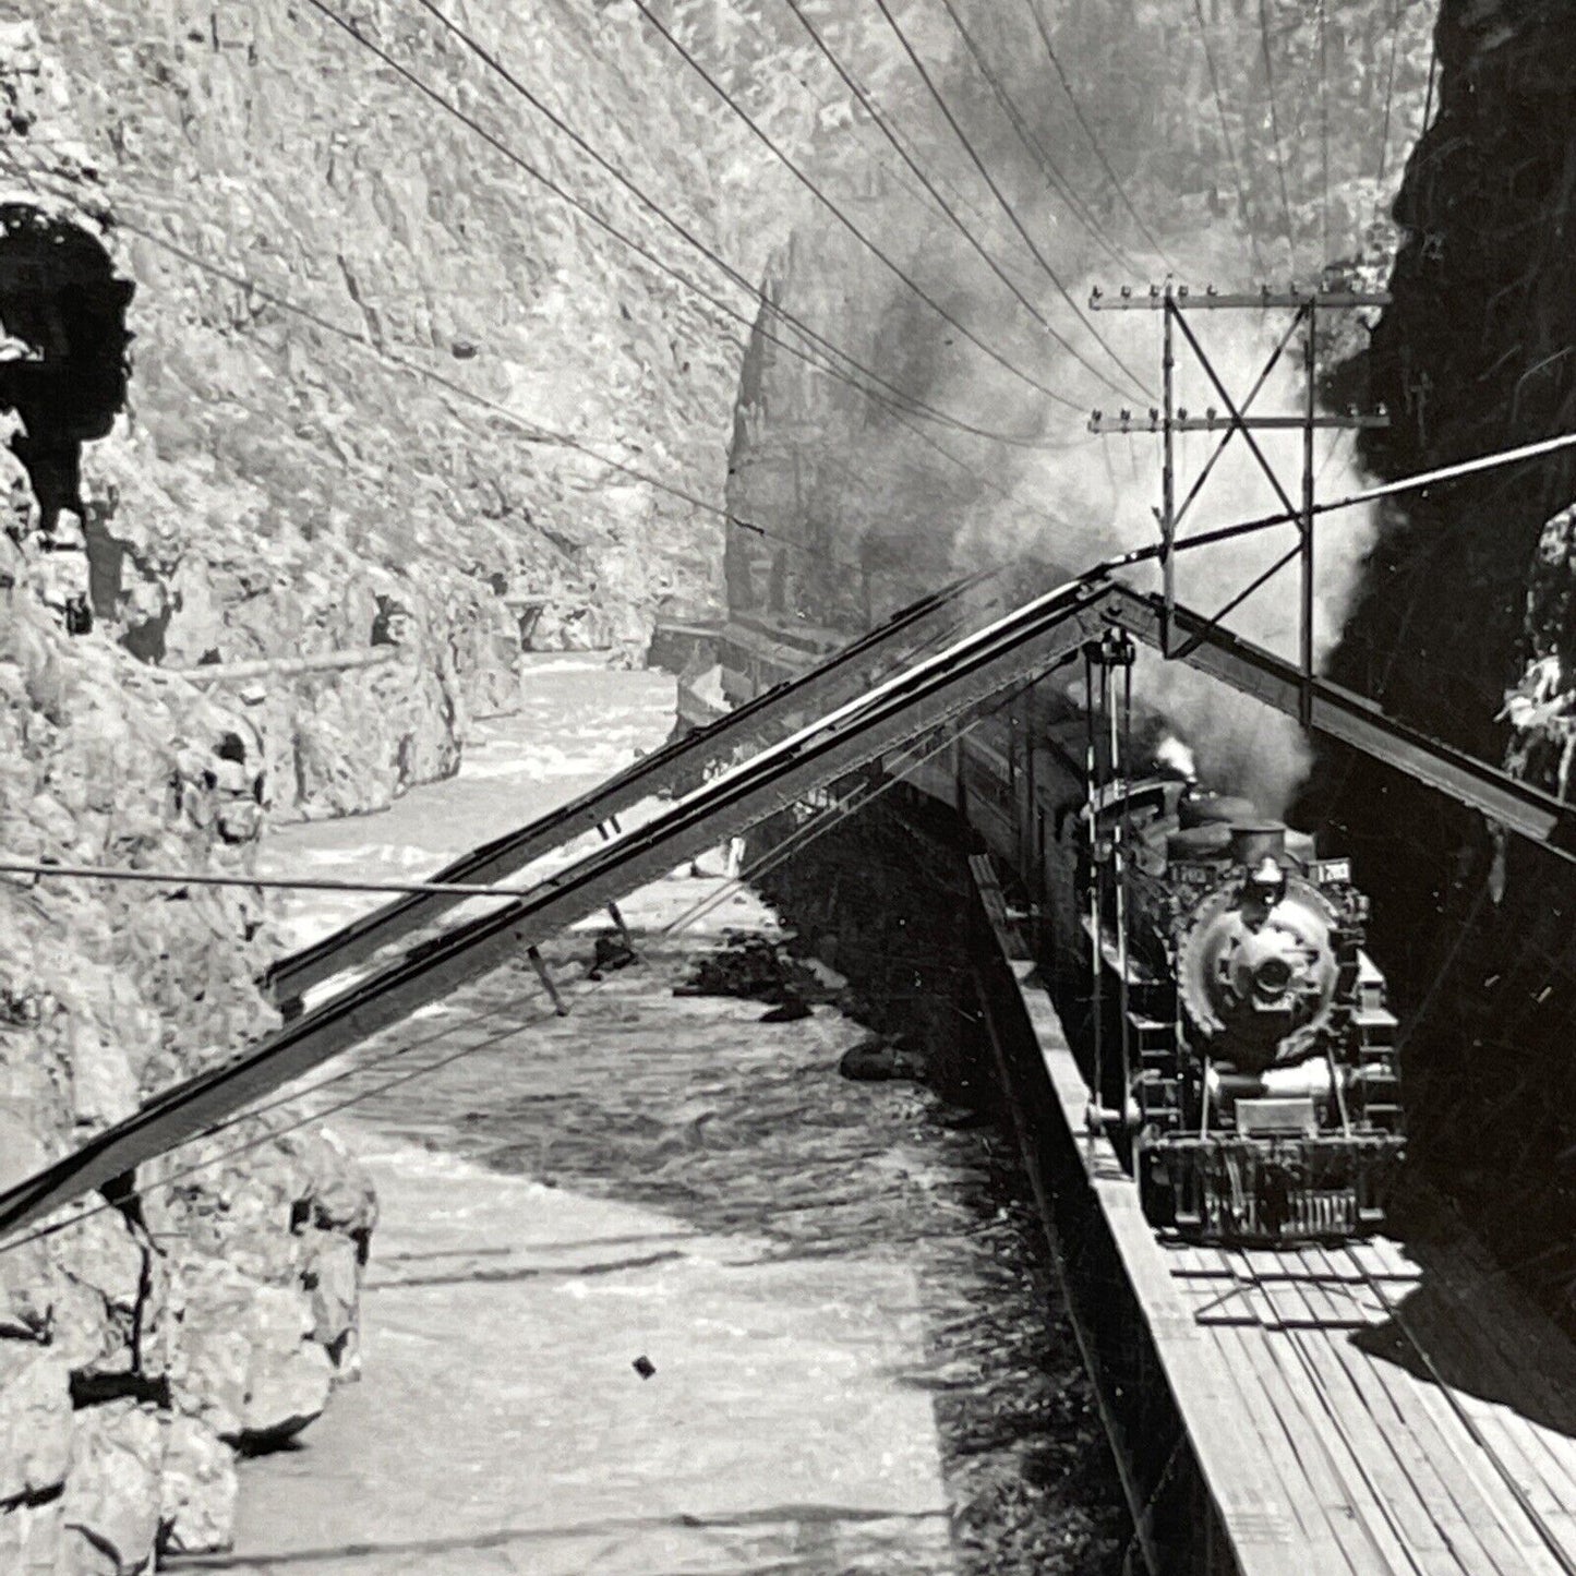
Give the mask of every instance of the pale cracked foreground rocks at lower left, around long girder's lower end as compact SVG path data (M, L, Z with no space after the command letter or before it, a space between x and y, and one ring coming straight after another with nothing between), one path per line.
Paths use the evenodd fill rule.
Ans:
M246 876L244 719L101 632L71 635L33 539L0 534L0 848ZM0 1185L273 1024L262 897L0 876ZM142 1571L230 1533L236 1450L358 1368L370 1187L295 1113L143 1168L0 1247L0 1568Z

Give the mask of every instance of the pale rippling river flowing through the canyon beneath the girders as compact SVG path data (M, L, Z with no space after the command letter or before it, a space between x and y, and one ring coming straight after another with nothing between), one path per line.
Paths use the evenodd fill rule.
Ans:
M281 827L268 873L432 872L673 714L671 679L586 662L525 690L457 779ZM367 1069L333 1119L381 1201L362 1379L243 1466L235 1552L186 1565L1114 1570L1111 1469L1010 1149L916 1086L840 1078L862 1031L835 1007L764 1024L675 998L725 930L779 930L720 857L698 868L624 906L637 966L586 977L597 925L544 949L566 1017L520 960L358 1053L466 1051L383 1092ZM303 895L281 925L301 944L372 901Z

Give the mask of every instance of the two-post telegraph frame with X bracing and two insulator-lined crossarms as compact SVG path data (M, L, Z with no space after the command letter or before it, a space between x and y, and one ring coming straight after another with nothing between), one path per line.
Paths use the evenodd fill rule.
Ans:
M1253 451L1253 457L1258 460L1259 468L1269 478L1270 485L1280 496L1281 507L1284 507L1288 515L1297 520L1297 545L1280 559L1273 569L1267 574L1259 575L1251 585L1247 586L1239 596L1220 608L1210 618L1210 626L1218 624L1228 613L1245 602L1261 585L1264 585L1272 575L1283 569L1292 558L1297 558L1302 566L1302 585L1299 597L1299 668L1302 673L1302 722L1303 727L1313 714L1313 611L1314 611L1314 596L1313 596L1313 522L1314 522L1314 468L1313 468L1313 435L1314 432L1325 429L1360 429L1360 427L1388 427L1390 418L1382 411L1376 416L1359 416L1355 413L1346 416L1325 416L1319 413L1318 408L1318 366L1316 366L1316 347L1314 336L1319 325L1321 312L1343 312L1354 310L1357 307L1371 306L1388 306L1390 296L1387 292L1374 290L1299 290L1292 285L1288 290L1270 290L1267 285L1256 292L1243 292L1237 295L1226 295L1215 290L1210 285L1202 295L1193 295L1187 285L1173 285L1169 281L1165 285L1150 285L1147 295L1135 295L1132 288L1124 287L1121 295L1106 296L1103 292L1095 290L1089 298L1089 306L1095 312L1160 312L1162 314L1162 331L1160 331L1160 355L1162 355L1162 403L1158 410L1150 410L1147 416L1133 416L1130 410L1119 411L1116 416L1108 416L1105 411L1094 411L1089 418L1089 430L1098 433L1132 433L1132 432L1152 432L1160 435L1162 443L1162 466L1160 466L1160 509L1157 511L1157 519L1160 522L1160 574L1162 574L1162 600L1163 610L1160 618L1160 646L1165 656L1176 657L1185 656L1185 651L1176 643L1176 563L1174 552L1177 545L1177 526L1182 523L1188 509L1198 500L1198 495L1204 490L1204 484L1209 481L1210 473L1215 470L1221 454L1229 448L1231 440L1240 433L1242 441ZM1240 403L1232 399L1231 391L1226 388L1210 361L1209 353L1199 342L1198 334L1195 334L1191 325L1188 323L1188 315L1191 312L1289 312L1291 320L1286 325L1284 333L1270 351L1269 359L1259 370L1253 388L1248 389L1245 399ZM1286 347L1292 342L1297 329L1302 328L1303 337L1303 381L1305 381L1305 399L1303 408L1297 414L1280 414L1280 416L1256 416L1248 414L1254 399L1258 399L1259 391L1269 381L1270 374L1280 362L1281 356L1286 353ZM1187 410L1179 410L1176 405L1176 351L1177 351L1177 334L1180 334L1185 345L1191 350L1198 364L1204 369L1209 381L1214 385L1215 392L1220 396L1226 407L1226 414L1221 416L1214 405L1207 408L1202 416L1190 416ZM1299 430L1302 433L1302 500L1300 504L1292 503L1291 492L1288 490L1284 481L1273 465L1266 459L1264 451L1259 448L1258 440L1253 437L1254 432L1267 430ZM1187 496L1179 506L1176 501L1177 490L1177 471L1176 471L1176 435L1179 432L1218 432L1221 435L1220 443L1215 446L1210 457L1206 460L1204 466L1199 470L1198 476L1188 487ZM1196 645L1198 637L1195 637L1193 645ZM1191 649L1191 645L1188 646Z

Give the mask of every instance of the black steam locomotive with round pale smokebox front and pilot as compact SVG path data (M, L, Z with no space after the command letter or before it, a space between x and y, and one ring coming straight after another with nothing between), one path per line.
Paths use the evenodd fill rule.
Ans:
M1080 820L1091 1121L1146 1217L1239 1243L1376 1229L1404 1150L1396 1020L1347 860L1174 779L1108 782Z

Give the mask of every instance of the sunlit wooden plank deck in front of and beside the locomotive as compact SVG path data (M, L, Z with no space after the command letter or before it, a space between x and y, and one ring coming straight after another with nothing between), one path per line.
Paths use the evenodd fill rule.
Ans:
M1576 1573L1576 1352L1481 1247L1158 1240L1032 965L1012 969L1243 1576Z

